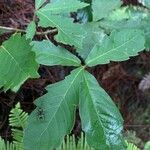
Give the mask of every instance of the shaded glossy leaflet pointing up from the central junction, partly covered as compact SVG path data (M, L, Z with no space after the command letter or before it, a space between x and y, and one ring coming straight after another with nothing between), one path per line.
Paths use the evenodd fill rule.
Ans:
M84 30L87 32L83 39L83 48L78 48L77 52L82 58L86 58L95 44L100 44L105 36L102 29L98 27L98 23L91 22L84 25Z

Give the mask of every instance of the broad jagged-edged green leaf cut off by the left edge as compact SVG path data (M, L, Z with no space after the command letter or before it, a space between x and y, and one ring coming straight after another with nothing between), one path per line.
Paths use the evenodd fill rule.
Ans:
M17 91L28 78L38 77L38 64L30 41L15 34L0 47L0 87Z

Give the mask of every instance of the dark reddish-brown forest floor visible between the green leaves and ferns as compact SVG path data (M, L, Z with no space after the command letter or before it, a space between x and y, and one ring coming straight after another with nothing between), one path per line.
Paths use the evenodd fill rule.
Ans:
M34 3L32 0L13 0L1 2L0 0L0 26L25 29L33 17ZM125 4L136 5L136 0L126 0ZM12 33L11 33L12 34ZM11 35L5 33L0 36L0 44ZM38 37L41 38L42 37ZM42 96L48 84L64 79L71 71L68 67L41 66L39 79L26 81L17 93L0 92L0 136L10 139L8 115L10 109L19 101L24 111L30 113L34 109L33 101ZM150 140L150 94L139 90L139 83L144 75L150 72L150 53L142 52L139 56L127 62L111 63L94 67L90 70L99 83L108 91L109 95L119 106L124 118L124 128L128 137L139 143ZM80 119L76 120L73 133L78 135L81 131ZM136 137L134 137L134 132ZM134 139L135 138L135 139ZM138 144L139 144L138 143Z

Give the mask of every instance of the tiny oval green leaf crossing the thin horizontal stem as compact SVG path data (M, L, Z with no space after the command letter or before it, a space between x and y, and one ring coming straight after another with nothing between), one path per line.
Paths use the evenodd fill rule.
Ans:
M33 39L36 32L36 24L34 21L31 21L26 29L26 38Z

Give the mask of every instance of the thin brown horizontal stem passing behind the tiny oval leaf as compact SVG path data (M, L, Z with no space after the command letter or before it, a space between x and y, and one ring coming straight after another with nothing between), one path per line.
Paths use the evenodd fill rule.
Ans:
M0 29L7 30L7 31L15 31L15 32L24 32L24 33L26 33L26 30L18 29L18 28L0 26ZM57 32L57 29L52 29L52 30L47 30L45 32L36 32L36 35L47 35L47 34L56 33L56 32Z

